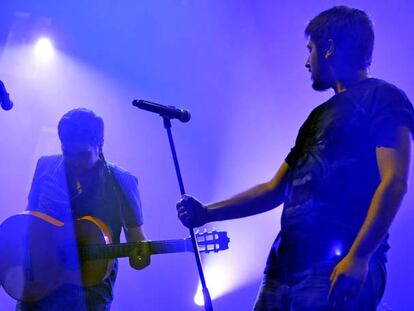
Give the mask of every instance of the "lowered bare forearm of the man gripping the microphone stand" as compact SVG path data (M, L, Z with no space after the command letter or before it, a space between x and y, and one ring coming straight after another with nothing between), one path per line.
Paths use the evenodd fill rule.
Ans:
M406 191L403 180L385 180L379 184L349 255L371 257L388 232Z

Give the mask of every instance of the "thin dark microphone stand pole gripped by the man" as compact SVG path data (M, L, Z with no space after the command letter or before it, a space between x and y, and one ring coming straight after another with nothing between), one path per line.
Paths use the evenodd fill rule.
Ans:
M168 141L170 142L170 148L171 148L171 153L172 153L172 157L174 160L174 167L175 167L175 172L177 174L178 184L180 186L180 192L181 192L181 195L184 195L185 194L184 183L181 177L180 166L178 164L177 153L175 151L174 140L173 140L172 133L171 133L171 119L168 116L163 116L163 115L161 116L164 120L164 128L167 130ZM204 278L203 266L201 264L200 252L198 250L198 244L197 244L197 240L194 234L194 228L190 228L189 230L190 230L191 243L194 249L195 260L197 263L198 274L200 276L200 282L201 282L201 286L203 289L204 308L206 311L213 311L213 304L211 302L210 293L208 291L206 280Z

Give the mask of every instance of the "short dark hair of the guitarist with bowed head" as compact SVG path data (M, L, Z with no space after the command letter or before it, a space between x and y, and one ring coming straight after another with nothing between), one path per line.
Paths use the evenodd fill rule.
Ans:
M86 108L66 112L59 121L58 133L61 143L87 143L103 146L104 123L100 116Z

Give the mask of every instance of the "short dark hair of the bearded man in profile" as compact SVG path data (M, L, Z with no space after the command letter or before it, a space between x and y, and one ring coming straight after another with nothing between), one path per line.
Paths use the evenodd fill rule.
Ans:
M366 69L371 65L374 30L364 11L335 6L314 17L307 25L305 35L315 43L318 51L332 39L341 60L354 69Z

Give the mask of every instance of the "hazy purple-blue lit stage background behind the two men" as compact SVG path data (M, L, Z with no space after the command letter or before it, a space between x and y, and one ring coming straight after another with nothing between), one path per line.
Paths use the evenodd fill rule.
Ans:
M180 238L179 198L161 119L132 99L188 108L173 122L186 190L204 202L270 179L313 107L332 96L311 88L304 27L335 4L366 10L375 23L372 76L414 98L411 1L12 1L0 8L0 79L15 107L0 111L0 220L22 211L36 160L59 152L56 126L83 106L106 123L107 159L140 181L145 230ZM23 14L25 13L25 14ZM33 60L33 40L51 34L53 62ZM382 310L411 310L414 292L412 186L391 229ZM280 208L209 224L230 250L203 257L215 310L251 310ZM1 259L0 259L1 260ZM121 260L112 310L203 310L191 254L158 255L144 271ZM0 308L14 302L0 290Z

